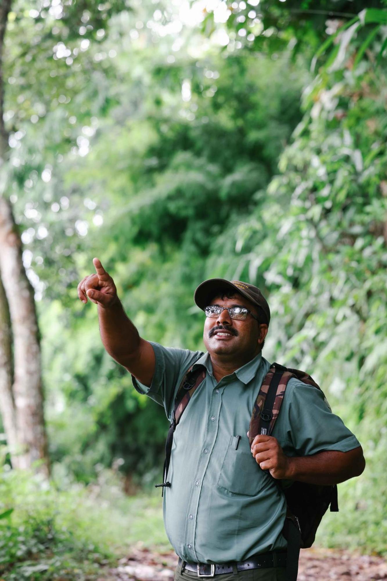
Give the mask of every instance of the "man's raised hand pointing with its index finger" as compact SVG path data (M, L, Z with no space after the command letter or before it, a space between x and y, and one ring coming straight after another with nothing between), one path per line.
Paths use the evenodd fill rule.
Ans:
M106 308L117 300L117 289L112 277L107 274L98 258L93 259L96 274L90 274L78 284L78 297L83 303L89 298L93 303Z

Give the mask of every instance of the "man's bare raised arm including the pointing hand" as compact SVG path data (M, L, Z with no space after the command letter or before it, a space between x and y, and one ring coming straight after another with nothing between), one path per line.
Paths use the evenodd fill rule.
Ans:
M93 259L95 274L78 284L78 297L98 308L99 332L107 353L126 367L141 383L150 386L155 372L155 353L148 341L141 339L137 328L127 317L117 296L113 278L98 258Z

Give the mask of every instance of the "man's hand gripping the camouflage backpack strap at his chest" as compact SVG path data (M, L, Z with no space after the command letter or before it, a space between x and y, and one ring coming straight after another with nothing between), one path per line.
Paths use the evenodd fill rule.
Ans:
M273 436L256 436L251 445L253 457L262 470L268 470L273 478L289 478L291 458Z

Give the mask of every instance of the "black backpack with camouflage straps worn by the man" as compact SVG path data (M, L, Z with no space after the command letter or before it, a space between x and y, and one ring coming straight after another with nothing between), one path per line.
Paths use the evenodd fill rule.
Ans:
M163 487L163 490L164 487L171 486L170 482L166 482L166 476L170 464L173 433L180 421L182 413L188 406L192 394L198 389L206 376L206 369L203 366L197 367L194 371L192 367L184 375L175 397L172 421L166 440L163 483L155 485L156 487ZM252 444L255 436L258 434L271 435L275 420L278 418L279 411L281 410L286 385L288 385L288 381L292 377L299 379L303 383L312 385L316 389L320 389L313 378L304 371L288 369L283 365L273 363L263 379L253 408L249 428L250 444ZM325 401L327 400L325 399ZM329 505L332 512L338 512L339 510L337 486L318 486L305 482L293 482L291 486L282 488L281 480L275 480L275 483L279 486L281 493L286 498L287 511L284 528L282 529L282 534L288 541L286 580L295 581L298 573L300 548L311 547L316 536L318 525Z

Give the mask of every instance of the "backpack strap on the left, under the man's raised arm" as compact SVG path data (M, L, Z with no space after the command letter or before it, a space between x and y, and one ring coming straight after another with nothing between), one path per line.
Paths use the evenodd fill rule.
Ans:
M181 380L180 386L177 390L175 397L175 405L171 416L171 425L169 426L167 439L165 443L165 460L163 468L163 483L155 484L156 488L162 487L162 496L164 494L164 487L170 487L171 483L166 482L169 464L171 460L171 451L173 443L173 433L176 429L177 424L180 422L180 418L185 408L188 406L189 400L191 399L193 392L199 387L203 379L206 376L206 368L204 365L198 365L195 370L192 370L193 365L189 368L187 373Z

